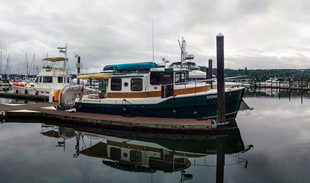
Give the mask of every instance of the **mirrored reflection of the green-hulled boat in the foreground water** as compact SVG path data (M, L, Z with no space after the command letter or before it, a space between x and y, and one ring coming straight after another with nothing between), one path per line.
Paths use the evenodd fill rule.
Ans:
M42 127L46 126L44 124ZM57 130L59 135L55 134ZM101 158L104 165L126 172L181 171L181 182L193 178L193 175L185 174L184 170L195 165L217 166L216 178L223 182L224 166L232 165L225 164L225 155L235 157L237 163L234 164L244 162L246 166L247 160L239 158L239 153L253 147L250 145L245 148L235 120L229 121L224 134L152 134L82 126L54 126L49 132L42 130L42 134L63 138L57 146L64 148L65 140L75 137L76 151L73 158L79 155ZM217 155L216 165L206 164L208 155ZM196 160L201 158L204 162L197 163Z

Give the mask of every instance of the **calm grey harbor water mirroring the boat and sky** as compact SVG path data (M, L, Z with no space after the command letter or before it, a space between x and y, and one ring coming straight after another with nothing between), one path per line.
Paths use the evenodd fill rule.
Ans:
M181 170L188 183L216 182L223 170L224 182L309 182L309 92L261 89L243 100L225 137L4 121L0 182L179 182Z

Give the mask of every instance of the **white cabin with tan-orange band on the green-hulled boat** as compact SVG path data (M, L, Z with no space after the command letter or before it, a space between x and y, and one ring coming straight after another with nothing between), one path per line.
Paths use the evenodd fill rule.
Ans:
M108 81L106 98L168 98L210 90L210 84L188 82L191 70L155 68L146 74L115 74Z

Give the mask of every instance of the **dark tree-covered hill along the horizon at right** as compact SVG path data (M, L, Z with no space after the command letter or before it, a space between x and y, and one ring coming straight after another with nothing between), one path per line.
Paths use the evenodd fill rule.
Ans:
M201 71L206 71L205 66L199 66ZM212 74L216 75L216 68L212 69ZM245 69L225 69L224 70L225 77L235 77L235 76L243 76L246 75ZM293 80L298 80L303 76L303 80L310 80L310 68L309 69L256 69L256 70L249 70L248 69L248 76L247 79L256 80L274 78L274 77L281 77L287 78L291 77Z

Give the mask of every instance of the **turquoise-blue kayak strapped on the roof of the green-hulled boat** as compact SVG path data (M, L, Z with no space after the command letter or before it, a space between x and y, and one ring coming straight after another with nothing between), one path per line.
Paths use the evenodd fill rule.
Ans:
M145 70L145 69L151 69L151 68L158 68L158 65L153 62L116 64L116 65L105 66L103 70Z

